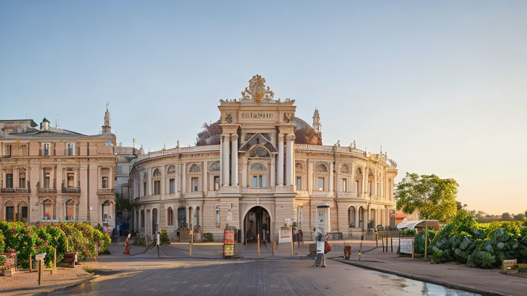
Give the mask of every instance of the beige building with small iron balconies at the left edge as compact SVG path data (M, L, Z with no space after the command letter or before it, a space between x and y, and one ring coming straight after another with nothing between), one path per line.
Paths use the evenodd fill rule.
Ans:
M114 225L116 156L108 105L102 132L83 135L45 118L0 121L0 219Z

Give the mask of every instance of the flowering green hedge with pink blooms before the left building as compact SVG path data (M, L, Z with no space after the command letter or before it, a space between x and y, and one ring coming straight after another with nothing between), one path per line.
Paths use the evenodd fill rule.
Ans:
M5 237L2 240L2 236ZM34 226L23 222L0 221L0 247L5 241L6 249L16 251L19 268L29 268L29 256L46 252L44 262L47 267L53 264L54 246L57 248L57 262L62 261L66 252L66 242L70 252L79 251L82 257L94 256L95 245L104 252L111 242L108 234L103 234L85 223L56 223L47 226Z

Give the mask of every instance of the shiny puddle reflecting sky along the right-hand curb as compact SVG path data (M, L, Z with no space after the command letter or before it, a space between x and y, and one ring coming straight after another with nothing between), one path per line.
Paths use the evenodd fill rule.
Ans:
M394 283L399 284L399 287L408 292L410 295L422 295L422 296L481 296L480 294L474 294L464 292L460 290L452 290L442 285L436 285L406 278L397 277L396 275L387 273L378 273L382 278L391 279Z

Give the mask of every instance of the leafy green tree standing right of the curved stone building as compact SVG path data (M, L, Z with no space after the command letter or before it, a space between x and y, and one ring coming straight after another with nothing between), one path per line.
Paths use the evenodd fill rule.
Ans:
M397 210L419 218L446 223L457 212L457 184L454 179L441 179L436 175L406 173L395 189Z

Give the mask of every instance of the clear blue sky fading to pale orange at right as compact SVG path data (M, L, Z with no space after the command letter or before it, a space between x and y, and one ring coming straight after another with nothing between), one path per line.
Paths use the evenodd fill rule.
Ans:
M527 2L0 3L1 119L193 145L255 74L324 144L453 177L469 209L527 210ZM400 179L400 178L399 178Z

